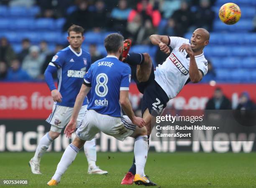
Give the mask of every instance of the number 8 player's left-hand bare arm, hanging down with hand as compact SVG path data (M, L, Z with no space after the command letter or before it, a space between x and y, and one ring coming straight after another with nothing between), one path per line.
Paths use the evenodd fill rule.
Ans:
M66 137L68 138L71 138L72 133L74 133L74 130L77 127L77 116L84 102L84 98L89 93L90 89L91 87L82 84L82 87L77 95L76 102L74 104L74 109L70 121L64 130L64 134L66 134Z

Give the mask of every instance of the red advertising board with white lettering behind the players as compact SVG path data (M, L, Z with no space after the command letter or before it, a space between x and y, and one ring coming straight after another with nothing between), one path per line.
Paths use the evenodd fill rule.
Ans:
M256 84L220 84L225 95L232 100L233 107L238 97L247 91L256 102ZM215 87L208 84L188 84L168 105L178 109L204 109ZM136 85L130 86L130 99L134 108L141 94ZM46 83L0 83L1 119L46 119L51 113L53 100Z

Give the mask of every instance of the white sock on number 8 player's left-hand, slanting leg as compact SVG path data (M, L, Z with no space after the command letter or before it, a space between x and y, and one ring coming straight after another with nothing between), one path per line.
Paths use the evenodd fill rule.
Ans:
M60 181L61 175L64 174L69 165L71 165L71 163L74 161L78 152L79 149L76 146L74 146L73 144L69 144L69 146L64 151L61 160L59 161L59 164L57 166L54 176L52 176L52 179L58 182Z

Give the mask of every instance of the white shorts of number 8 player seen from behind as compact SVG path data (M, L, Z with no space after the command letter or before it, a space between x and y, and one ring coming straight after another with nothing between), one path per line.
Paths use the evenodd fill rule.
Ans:
M132 124L127 115L117 118L97 113L95 110L88 110L82 124L77 126L76 135L82 140L91 140L102 131L123 141L133 134L135 128L136 125Z

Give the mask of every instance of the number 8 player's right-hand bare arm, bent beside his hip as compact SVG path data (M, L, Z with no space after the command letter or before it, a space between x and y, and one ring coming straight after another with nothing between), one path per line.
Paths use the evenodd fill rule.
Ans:
M128 90L120 90L120 105L125 112L125 114L131 119L134 125L138 127L145 126L145 121L142 118L136 117L133 113L133 109L131 107L131 102L129 100L129 91Z

